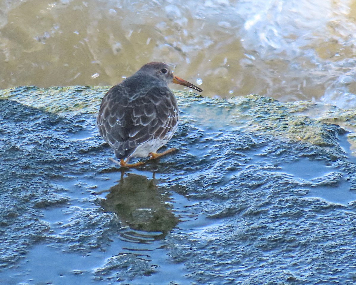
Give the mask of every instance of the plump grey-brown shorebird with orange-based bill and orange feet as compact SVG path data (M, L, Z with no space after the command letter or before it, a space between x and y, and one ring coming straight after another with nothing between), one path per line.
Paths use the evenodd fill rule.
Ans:
M176 151L171 148L157 152L172 138L179 120L177 99L168 83L203 91L174 76L166 63L150 62L104 95L96 125L119 160L110 157L111 161L121 167L137 167L145 162L129 164L132 157L156 159Z

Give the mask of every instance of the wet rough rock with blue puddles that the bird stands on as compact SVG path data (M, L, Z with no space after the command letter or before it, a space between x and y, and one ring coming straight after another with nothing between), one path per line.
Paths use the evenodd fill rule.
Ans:
M121 173L95 129L107 89L1 90L5 284L355 282L354 111L176 92L178 152ZM47 255L89 262L37 276Z

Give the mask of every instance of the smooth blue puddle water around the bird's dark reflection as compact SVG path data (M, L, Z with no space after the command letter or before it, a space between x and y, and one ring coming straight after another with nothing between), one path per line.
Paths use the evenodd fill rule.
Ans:
M150 177L143 175L152 176L152 173L145 171L130 171L128 177L135 176L139 173L140 178L133 178L132 183L125 183L125 189L127 191L132 190L133 185L136 185L137 190L141 190L141 195L144 195L145 183L142 178L145 177L147 181ZM70 212L72 207L93 207L92 204L85 202L88 195L95 195L103 198L102 203L106 203L105 195L110 193L108 186L114 186L117 183L117 179L120 179L121 172L115 171L110 175L98 175L95 179L90 179L88 177L78 177L75 180L63 181L60 185L68 190L67 194L70 193L71 202L70 204L62 208L51 208L48 210L43 210L41 213L41 219L49 224L51 227L51 234L55 235L61 231L61 225L68 222L68 219L72 218ZM125 175L125 178L127 176ZM124 178L124 179L125 179ZM93 184L94 183L94 184ZM89 188L95 188L95 191L88 191ZM135 187L135 186L133 186ZM155 193L151 193L155 195ZM189 229L191 227L199 228L206 223L206 219L201 213L194 213L194 202L188 201L184 196L179 195L175 192L169 193L171 212L174 216L179 217L180 226L179 229ZM162 196L157 193L156 198L160 199ZM127 204L132 201L133 197L122 197L123 203ZM142 200L138 200L140 203ZM155 211L155 203L152 201L144 200L147 203L148 209ZM166 202L166 201L164 201ZM174 205L174 207L173 207ZM137 207L140 209L140 207ZM104 211L105 208L103 209ZM125 209L126 210L126 209ZM123 211L126 216L132 212ZM147 215L144 215L147 217ZM164 213L161 213L161 216ZM169 216L169 215L168 215ZM0 273L1 279L5 282L4 284L42 284L51 282L53 284L103 284L103 280L100 274L93 278L93 271L100 268L101 265L107 262L107 259L117 256L125 256L127 254L132 255L133 262L135 259L141 259L143 261L149 262L151 265L148 268L144 267L136 275L137 278L133 279L133 275L129 283L125 284L168 284L172 280L177 282L187 282L184 275L188 275L189 272L184 269L183 264L174 264L169 260L167 254L168 250L164 249L167 246L167 241L162 240L167 234L167 230L171 231L175 228L176 224L172 225L171 228L167 229L162 227L161 229L155 228L149 231L135 229L132 225L125 226L126 220L124 217L120 216L119 219L122 221L122 228L119 231L119 235L112 237L110 242L110 247L104 252L101 250L92 250L86 254L75 254L67 253L61 248L56 248L53 244L37 244L30 252L26 255L26 258L21 261L19 265L16 265L10 270L5 270ZM142 222L139 217L132 217L133 222ZM205 222L204 222L205 221ZM129 223L130 224L130 223ZM143 225L143 227L147 226ZM158 232L161 230L161 232ZM166 231L163 235L162 232ZM127 262L129 263L129 262ZM131 266L128 264L127 266ZM152 268L152 272L150 271ZM39 270L40 269L40 270ZM154 274L153 274L154 273ZM144 277L140 277L144 275ZM123 280L130 278L130 276L124 276ZM104 275L105 278L105 275ZM104 281L104 284L107 281Z

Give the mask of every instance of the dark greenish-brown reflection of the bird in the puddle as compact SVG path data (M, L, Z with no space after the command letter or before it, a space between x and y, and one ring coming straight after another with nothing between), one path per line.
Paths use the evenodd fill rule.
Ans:
M117 185L110 187L101 206L105 212L116 213L131 229L156 232L155 239L164 238L176 226L178 218L167 203L169 192L156 183L155 178L143 175L123 175Z

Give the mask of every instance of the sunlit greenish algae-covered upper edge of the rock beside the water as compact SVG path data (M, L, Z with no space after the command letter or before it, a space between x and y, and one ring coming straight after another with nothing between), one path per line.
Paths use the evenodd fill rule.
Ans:
M15 100L21 104L40 108L46 112L60 115L75 115L78 113L95 114L98 112L101 98L109 87L51 87L38 88L17 87L0 91L0 98ZM259 95L248 95L232 99L203 98L194 93L175 92L181 107L197 109L197 119L213 121L212 124L244 126L252 133L263 132L294 141L306 141L321 146L333 146L335 140L330 136L334 124L344 126L348 130L356 130L356 112L334 108L322 109L314 102L282 103L275 99ZM199 105L205 109L200 112ZM324 106L324 105L323 105ZM318 110L318 118L310 118L308 110ZM219 118L219 120L216 120ZM328 125L327 128L325 124ZM334 130L335 131L335 130ZM350 143L356 148L353 135Z

